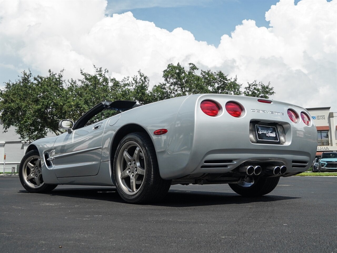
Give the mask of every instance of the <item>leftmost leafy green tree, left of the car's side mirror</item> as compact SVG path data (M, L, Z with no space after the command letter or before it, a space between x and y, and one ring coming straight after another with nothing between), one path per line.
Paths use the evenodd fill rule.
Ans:
M59 135L58 122L64 117L63 71L49 71L47 77L33 77L31 72L22 72L16 82L8 81L0 90L0 120L4 131L10 126L24 141L32 141L54 132Z

